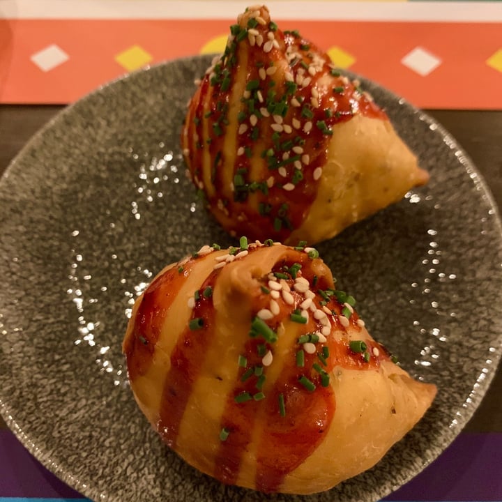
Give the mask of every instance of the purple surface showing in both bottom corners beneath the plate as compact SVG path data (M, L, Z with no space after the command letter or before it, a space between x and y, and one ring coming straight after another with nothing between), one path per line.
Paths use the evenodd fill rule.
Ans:
M0 499L82 496L0 429ZM464 433L419 476L384 501L502 502L502 434Z

